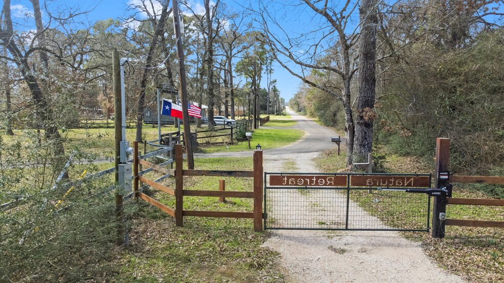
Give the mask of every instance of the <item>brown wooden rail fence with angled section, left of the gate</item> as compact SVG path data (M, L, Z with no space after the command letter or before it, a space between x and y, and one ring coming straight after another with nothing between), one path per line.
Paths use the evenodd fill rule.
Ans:
M262 169L262 151L254 151L254 171L218 171L218 170L184 170L182 161L182 145L175 145L175 170L168 169L154 164L152 162L138 158L138 142L134 144L135 156L133 159L134 173L134 195L136 199L143 199L153 206L161 209L166 214L175 217L177 226L183 226L183 218L185 216L193 217L226 217L226 218L250 218L254 219L254 230L262 231L262 200L263 200L263 169ZM140 165L148 167L151 170L174 176L175 190L162 185L158 182L140 176ZM233 191L196 191L184 190L184 176L215 176L215 177L245 177L254 178L253 192L233 192ZM156 190L169 194L175 197L175 209L167 207L159 201L143 194L139 191L140 182L150 185ZM222 186L222 184L221 184ZM192 197L217 197L219 199L225 197L232 198L250 198L254 199L254 209L251 212L237 211L203 211L203 210L184 210L184 196Z

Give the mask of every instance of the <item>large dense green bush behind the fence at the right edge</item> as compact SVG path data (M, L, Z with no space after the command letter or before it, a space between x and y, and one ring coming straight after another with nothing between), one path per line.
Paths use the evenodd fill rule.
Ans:
M382 142L432 158L436 137L448 137L452 172L488 174L492 165L504 166L501 38L502 32L489 32L471 48L435 58L432 46L423 45L424 52L416 46L411 67L387 82L386 92L394 95L380 101L376 126Z

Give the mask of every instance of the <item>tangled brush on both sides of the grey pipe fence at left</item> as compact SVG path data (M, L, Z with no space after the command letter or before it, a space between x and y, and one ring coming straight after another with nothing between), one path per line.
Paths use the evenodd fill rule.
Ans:
M39 144L31 133L23 132L9 140L2 136L0 203L22 200L0 209L0 281L83 281L106 276L116 231L110 175L86 181L66 195L68 186L53 184L68 156L54 157L51 140ZM74 164L79 157L85 155L77 152ZM76 179L83 169L72 167L70 175Z

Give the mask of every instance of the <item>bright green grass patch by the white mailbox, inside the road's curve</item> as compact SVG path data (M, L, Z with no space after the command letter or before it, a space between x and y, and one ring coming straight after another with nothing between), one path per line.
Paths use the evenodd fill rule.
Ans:
M260 144L262 149L273 149L287 146L294 143L296 140L303 137L304 132L301 130L291 129L257 129L252 134L250 140L250 147L248 149L248 141L239 141L233 145L224 146L201 146L201 151L204 153L214 152L236 152L236 151L251 151L256 149L256 145Z

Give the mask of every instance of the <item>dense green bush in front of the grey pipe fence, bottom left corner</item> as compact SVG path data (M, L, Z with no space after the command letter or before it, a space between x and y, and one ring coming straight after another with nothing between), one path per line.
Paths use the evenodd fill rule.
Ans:
M65 192L33 194L0 212L0 281L80 281L107 271L116 231L112 193L86 184L56 208Z

